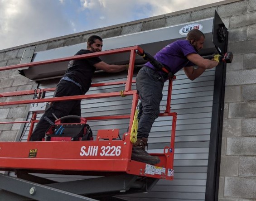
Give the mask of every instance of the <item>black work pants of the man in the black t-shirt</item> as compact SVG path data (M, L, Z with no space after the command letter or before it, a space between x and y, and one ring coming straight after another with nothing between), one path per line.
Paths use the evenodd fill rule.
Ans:
M77 95L82 95L82 91L79 86L70 81L61 80L57 85L56 94L54 97ZM42 141L46 131L51 126L51 122L54 123L56 120L53 114L57 118L67 115L81 116L81 100L53 102L37 123L30 137L30 141Z

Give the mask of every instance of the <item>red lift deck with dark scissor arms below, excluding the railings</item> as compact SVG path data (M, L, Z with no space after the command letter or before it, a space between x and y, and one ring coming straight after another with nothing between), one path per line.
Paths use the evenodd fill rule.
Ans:
M116 138L118 132L105 130L102 137ZM51 200L101 200L103 196L112 201L116 195L148 192L159 179L173 179L172 148L152 153L161 160L155 166L140 163L130 160L130 136L123 136L121 140L100 140L98 134L95 141L0 142L0 170L17 175L0 174L0 189L42 201L49 195ZM101 177L58 183L31 173Z

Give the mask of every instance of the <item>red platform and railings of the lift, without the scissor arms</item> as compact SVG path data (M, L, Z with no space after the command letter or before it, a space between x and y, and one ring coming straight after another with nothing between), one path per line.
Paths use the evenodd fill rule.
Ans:
M81 59L86 57L102 56L113 53L123 53L130 51L130 63L126 81L96 83L92 86L109 86L117 84L125 84L123 95L132 96L132 104L129 115L111 115L111 116L98 116L98 117L85 117L87 120L111 120L111 119L127 119L130 118L129 130L123 134L122 139L112 140L93 140L93 141L63 141L63 142L0 142L0 170L15 170L26 169L28 171L77 171L77 172L126 172L146 177L154 177L159 179L173 179L173 160L174 160L174 140L177 113L170 112L172 82L175 79L169 80L168 97L166 110L159 116L172 117L172 129L170 147L165 147L163 153L150 153L157 155L160 158L160 163L152 166L145 163L140 163L130 159L132 143L130 142L130 132L135 115L136 106L138 103L138 94L136 90L131 90L131 84L135 81L132 80L134 64L135 64L135 51L143 52L139 46L120 48L116 50L103 51L101 53L91 53L86 55L79 55L73 57L65 57L60 59L52 59L43 62L32 62L29 64L19 64L9 67L0 67L0 71L10 70L21 67L34 67L53 62L63 62L73 59ZM42 93L43 91L53 91L55 88L43 89L36 91ZM15 91L1 93L0 97L8 96L23 96L34 94L35 90ZM1 106L5 105L19 105L29 103L41 103L52 101L66 101L66 100L82 100L91 98L106 98L120 96L120 91L110 93L99 93L92 95L81 96L65 96L55 98L39 98L33 100L22 101L7 101L0 102ZM34 124L37 122L36 113L32 115L31 125L29 130L28 140L32 134ZM3 123L28 123L28 121L19 122L1 122ZM110 136L109 131L98 131L98 133L105 132L106 136ZM116 132L116 131L115 131ZM104 133L104 136L105 136ZM97 138L101 138L98 134Z

